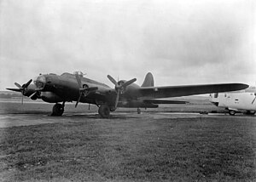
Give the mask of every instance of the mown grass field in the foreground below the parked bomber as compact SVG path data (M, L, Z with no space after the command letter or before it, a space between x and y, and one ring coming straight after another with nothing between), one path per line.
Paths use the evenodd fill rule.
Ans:
M255 117L152 116L0 128L0 179L256 181Z

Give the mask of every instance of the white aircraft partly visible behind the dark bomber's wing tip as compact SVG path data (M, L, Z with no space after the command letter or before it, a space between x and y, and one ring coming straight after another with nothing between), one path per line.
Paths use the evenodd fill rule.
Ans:
M256 112L256 87L249 87L240 92L210 94L210 101L218 107L229 110L230 115L236 111L247 111L249 115Z

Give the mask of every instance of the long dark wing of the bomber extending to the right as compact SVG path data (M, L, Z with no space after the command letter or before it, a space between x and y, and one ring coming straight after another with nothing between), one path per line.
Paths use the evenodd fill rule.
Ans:
M203 85L182 85L166 87L145 87L139 89L139 97L146 98L168 98L181 97L193 94L210 94L219 92L236 91L247 88L242 83L222 83Z

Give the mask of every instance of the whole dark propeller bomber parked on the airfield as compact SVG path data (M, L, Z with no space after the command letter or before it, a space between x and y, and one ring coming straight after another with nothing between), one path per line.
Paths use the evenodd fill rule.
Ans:
M25 95L32 100L42 99L45 102L56 103L53 106L53 116L63 114L65 102L76 101L75 106L79 102L97 105L100 116L109 117L110 111L115 111L117 107L134 107L139 113L139 108L154 108L159 104L185 103L176 100L156 100L159 98L227 92L248 87L241 83L154 87L154 78L150 72L146 75L142 86L134 83L136 78L117 82L108 75L108 79L113 82L114 88L83 77L83 74L78 71L74 74L63 73L60 76L40 74L34 79L34 84L31 84L31 79L22 86L15 82L18 88L7 89L21 92L22 97Z

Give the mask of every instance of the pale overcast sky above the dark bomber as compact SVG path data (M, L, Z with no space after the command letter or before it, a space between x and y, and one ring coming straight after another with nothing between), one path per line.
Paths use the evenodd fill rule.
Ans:
M0 90L83 71L157 86L256 82L254 0L2 0Z

